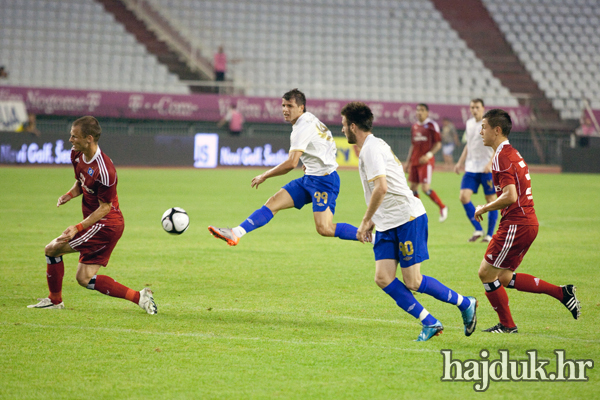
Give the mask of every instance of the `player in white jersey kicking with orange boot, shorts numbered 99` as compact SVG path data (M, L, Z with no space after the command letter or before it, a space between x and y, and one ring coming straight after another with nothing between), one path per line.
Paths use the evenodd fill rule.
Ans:
M287 174L298 165L299 160L304 165L304 176L281 188L239 226L233 229L209 226L208 230L214 237L235 246L246 233L271 221L278 211L292 207L301 209L305 204L312 203L315 226L320 235L357 240L356 227L333 223L340 178L336 172L337 148L331 132L317 117L306 111L306 97L298 89L283 95L281 107L283 118L293 125L289 157L254 177L251 187L258 189L265 180Z

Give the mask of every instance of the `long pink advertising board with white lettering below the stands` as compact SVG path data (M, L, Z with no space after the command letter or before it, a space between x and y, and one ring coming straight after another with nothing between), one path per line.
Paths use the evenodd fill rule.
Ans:
M175 95L102 90L68 90L0 86L0 100L24 101L27 110L37 115L160 119L180 121L218 121L230 104L237 104L248 122L282 123L281 99L275 97L220 96L216 94ZM307 99L307 111L326 124L341 125L340 110L347 100ZM366 101L375 115L375 126L408 127L415 120L416 103ZM487 109L494 105L487 105ZM515 131L529 123L527 107L502 107L512 119ZM449 118L463 129L470 118L469 105L429 103L430 116L441 124Z

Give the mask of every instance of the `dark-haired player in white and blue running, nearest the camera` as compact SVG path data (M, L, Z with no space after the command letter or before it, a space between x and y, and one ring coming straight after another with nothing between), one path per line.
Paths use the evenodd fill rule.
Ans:
M342 132L348 143L360 149L358 168L367 211L358 228L358 240L373 241L375 283L400 308L423 324L417 341L439 335L444 327L415 299L411 290L458 306L470 336L477 324L477 300L463 297L430 276L421 275L427 251L427 214L421 200L410 190L402 163L383 140L373 136L373 113L364 103L348 103L342 109ZM402 283L396 272L402 270Z

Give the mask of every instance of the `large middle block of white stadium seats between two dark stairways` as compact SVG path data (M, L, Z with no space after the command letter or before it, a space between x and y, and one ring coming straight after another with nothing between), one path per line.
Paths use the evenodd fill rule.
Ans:
M203 46L224 45L247 95L498 105L517 100L428 0L156 0ZM293 10L293 12L291 12Z

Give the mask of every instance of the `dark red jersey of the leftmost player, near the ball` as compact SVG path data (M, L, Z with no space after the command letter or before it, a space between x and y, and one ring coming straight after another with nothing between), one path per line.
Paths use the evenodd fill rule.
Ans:
M123 220L117 196L117 170L112 160L100 147L91 161L85 161L83 153L71 150L71 162L75 169L75 179L83 193L81 209L83 218L87 218L103 203L112 203L109 213L101 221Z

